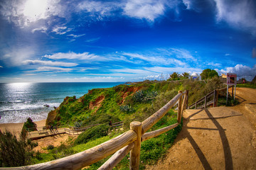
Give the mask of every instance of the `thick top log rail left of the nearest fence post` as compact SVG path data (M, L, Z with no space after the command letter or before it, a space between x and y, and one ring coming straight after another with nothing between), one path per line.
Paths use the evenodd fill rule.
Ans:
M117 150L122 149L130 143L137 140L137 134L134 130L124 132L122 135L114 137L96 147L92 147L78 154L73 154L68 157L56 159L51 162L34 164L30 166L20 166L14 169L82 169L85 166L104 159L105 157L114 154Z

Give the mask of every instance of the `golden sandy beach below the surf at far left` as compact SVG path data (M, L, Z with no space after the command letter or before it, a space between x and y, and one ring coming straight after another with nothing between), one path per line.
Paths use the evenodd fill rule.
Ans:
M46 119L40 120L40 121L35 121L36 125L38 127L45 126L46 125ZM2 123L0 124L0 130L1 132L5 132L8 130L9 132L12 132L16 137L19 136L21 129L23 127L24 123Z

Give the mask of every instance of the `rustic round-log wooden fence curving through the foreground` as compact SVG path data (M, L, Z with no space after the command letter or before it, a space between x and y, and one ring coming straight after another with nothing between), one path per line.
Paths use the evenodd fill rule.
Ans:
M178 101L178 123L169 125L166 128L146 132L153 125L155 125ZM142 123L134 121L130 123L130 130L124 132L122 135L114 137L100 145L87 149L78 154L63 157L51 162L41 164L34 164L30 166L20 166L9 169L82 169L82 167L89 166L95 162L112 155L110 159L105 162L100 169L113 169L124 157L130 152L129 169L139 169L139 156L141 142L149 140L152 137L163 134L171 129L176 128L181 123L183 111L186 109L188 103L188 91L178 91L178 94L171 99L165 106L156 111L149 118L146 118Z

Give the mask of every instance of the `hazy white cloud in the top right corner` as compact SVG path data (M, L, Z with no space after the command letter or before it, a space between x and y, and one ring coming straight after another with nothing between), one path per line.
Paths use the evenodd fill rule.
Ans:
M252 0L214 0L217 21L225 21L230 26L249 30L256 36L256 5Z

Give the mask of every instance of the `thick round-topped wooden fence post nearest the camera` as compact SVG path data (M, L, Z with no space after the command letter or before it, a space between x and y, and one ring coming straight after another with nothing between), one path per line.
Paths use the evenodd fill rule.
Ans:
M137 133L137 140L134 141L134 148L130 151L129 169L139 169L139 156L142 142L142 123L134 121L130 123L130 129Z

